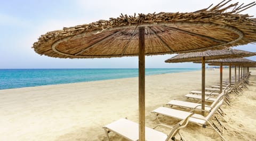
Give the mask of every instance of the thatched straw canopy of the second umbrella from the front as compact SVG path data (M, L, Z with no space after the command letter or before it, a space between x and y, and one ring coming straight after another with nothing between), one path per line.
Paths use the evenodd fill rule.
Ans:
M242 51L239 49L221 49L215 51L204 51L204 52L191 52L191 53L180 53L171 57L170 59L165 60L166 63L179 63L179 62L193 62L201 61L202 57L205 57L205 60L214 60L214 59L231 59L231 58L241 58L254 56L256 53Z

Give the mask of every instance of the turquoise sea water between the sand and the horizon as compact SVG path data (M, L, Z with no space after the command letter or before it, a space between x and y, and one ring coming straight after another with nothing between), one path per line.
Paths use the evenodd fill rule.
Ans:
M154 74L199 69L146 69ZM138 69L0 69L0 89L138 77Z

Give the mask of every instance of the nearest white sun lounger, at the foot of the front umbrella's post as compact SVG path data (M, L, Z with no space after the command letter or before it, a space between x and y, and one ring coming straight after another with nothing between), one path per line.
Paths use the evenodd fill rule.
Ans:
M191 117L193 113L187 113L185 115L184 120L180 121L174 127L170 127L163 124L156 125L153 129L145 127L145 139L147 141L167 141L170 138L175 139L175 135L179 134L182 140L185 140L184 137L179 133L181 128L184 128L188 124L188 118ZM169 135L164 134L161 131L155 130L158 126L164 126L171 128ZM114 132L115 134L126 138L127 140L137 141L139 140L139 125L133 121L127 119L119 119L115 122L110 123L109 125L103 126L105 133L107 135L108 140L110 140L108 133L110 131Z

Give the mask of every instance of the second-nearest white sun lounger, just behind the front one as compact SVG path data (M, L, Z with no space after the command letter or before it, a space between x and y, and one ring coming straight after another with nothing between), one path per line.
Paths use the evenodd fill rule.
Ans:
M211 112L206 117L204 117L201 114L193 114L188 121L192 123L196 123L197 125L202 126L204 128L206 128L206 125L210 125L210 127L213 128L220 135L220 137L226 141L226 139L220 134L220 132L222 131L219 129L220 128L219 126L221 126L223 129L226 129L226 127L224 127L219 120L218 120L218 122L220 123L219 126L215 126L215 124L212 124L210 122L214 113L219 109L222 103L223 103L223 99L221 99L221 101L218 102L218 104L211 110ZM159 123L161 123L161 121L158 118L159 115L182 120L185 117L185 115L190 112L180 111L180 110L171 109L167 107L158 107L156 110L152 111L152 113L155 114L156 119L158 120Z

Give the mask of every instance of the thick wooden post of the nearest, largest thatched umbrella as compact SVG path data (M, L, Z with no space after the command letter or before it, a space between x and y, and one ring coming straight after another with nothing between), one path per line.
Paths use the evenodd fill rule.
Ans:
M139 140L145 141L145 27L139 27Z

